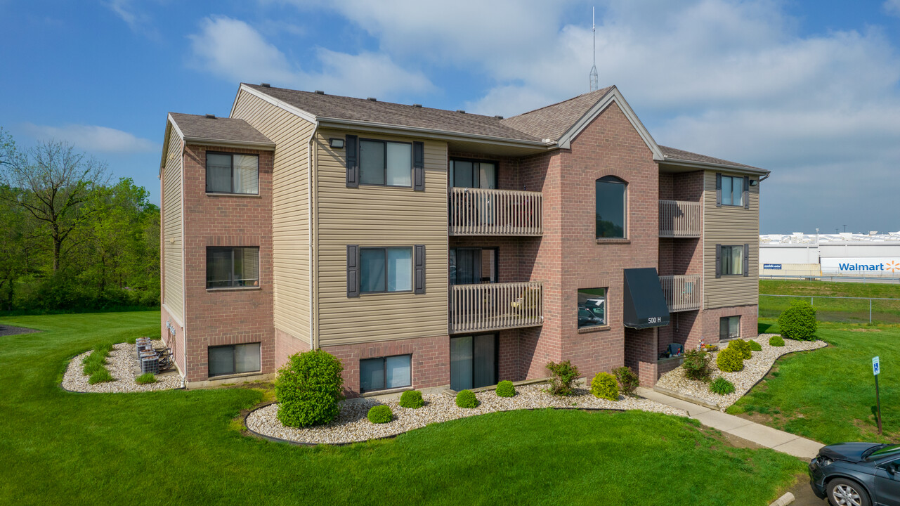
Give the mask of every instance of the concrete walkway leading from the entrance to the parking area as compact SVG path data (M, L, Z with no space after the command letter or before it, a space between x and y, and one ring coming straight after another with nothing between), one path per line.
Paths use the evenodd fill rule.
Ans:
M779 452L798 456L806 460L815 457L819 452L819 448L823 447L821 443L810 439L788 434L788 432L782 430L772 429L771 427L766 427L722 411L710 410L706 406L681 401L649 388L638 388L637 393L651 401L662 402L663 404L688 411L690 418L698 420L707 427L712 427L738 438L747 439L763 447L770 447Z

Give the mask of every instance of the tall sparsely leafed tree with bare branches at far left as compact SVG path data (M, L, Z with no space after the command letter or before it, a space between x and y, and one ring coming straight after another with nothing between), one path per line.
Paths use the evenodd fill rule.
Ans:
M0 184L21 190L5 192L0 197L10 199L14 195L11 202L22 206L43 225L52 243L56 273L60 259L73 246L73 231L96 209L85 202L94 187L108 181L106 164L87 158L65 142L41 142L26 151L15 149L8 136L0 142L4 143Z

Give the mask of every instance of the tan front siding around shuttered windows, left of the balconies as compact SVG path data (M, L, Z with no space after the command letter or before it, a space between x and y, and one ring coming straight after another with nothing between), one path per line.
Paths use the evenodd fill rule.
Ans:
M264 132L265 133L265 132ZM425 192L412 188L347 188L344 149L317 136L319 177L320 346L447 334L447 146L425 140ZM375 134L360 138L412 141ZM425 294L347 297L347 245L426 245Z

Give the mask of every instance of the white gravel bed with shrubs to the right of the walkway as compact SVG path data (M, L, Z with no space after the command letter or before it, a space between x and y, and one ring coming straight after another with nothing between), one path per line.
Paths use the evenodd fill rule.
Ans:
M697 397L703 401L717 405L720 411L725 411L725 408L731 406L734 402L737 402L738 399L743 397L744 393L749 392L752 386L759 382L762 377L769 372L772 365L775 364L775 361L782 355L795 351L806 351L827 346L827 344L821 340L796 341L794 339L785 339L785 346L783 347L770 346L769 338L774 335L775 334L760 334L758 338L752 339L760 343L762 351L754 351L751 358L743 361L743 371L724 373L716 367L716 356L718 356L719 352L716 351L709 354L712 357L712 360L710 361L710 366L713 369L712 379L716 379L718 376L725 377L726 380L734 384L734 393L719 395L718 393L710 392L709 384L686 378L684 376L683 367L679 367L662 375L660 380L656 382L656 386L668 388L669 390L690 395L691 397ZM724 347L719 349L724 349Z

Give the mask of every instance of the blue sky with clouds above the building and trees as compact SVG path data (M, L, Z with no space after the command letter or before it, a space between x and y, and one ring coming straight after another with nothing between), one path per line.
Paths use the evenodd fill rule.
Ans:
M761 231L900 230L900 0L0 0L0 127L158 203L166 113L238 82L513 115L600 86L657 142L772 171Z

